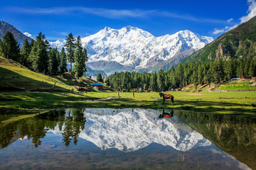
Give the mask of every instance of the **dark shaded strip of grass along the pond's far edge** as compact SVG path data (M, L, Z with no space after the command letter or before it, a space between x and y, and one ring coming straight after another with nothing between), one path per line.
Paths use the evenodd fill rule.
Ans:
M100 94L100 93L99 93ZM5 100L3 99L5 98ZM2 100L3 99L3 100ZM24 92L16 94L0 94L0 106L3 108L174 108L176 110L201 111L210 113L250 114L256 116L256 109L241 103L216 101L171 101L144 100L138 98L113 98L110 100L93 101L98 97L86 94L70 94L67 92ZM92 100L92 101L91 101Z

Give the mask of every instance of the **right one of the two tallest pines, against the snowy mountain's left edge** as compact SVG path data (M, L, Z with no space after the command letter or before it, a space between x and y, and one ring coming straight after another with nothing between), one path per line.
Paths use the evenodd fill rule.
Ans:
M74 72L75 77L79 79L82 77L82 74L85 72L85 54L82 49L82 42L80 36L78 36L75 42L75 65L74 65Z

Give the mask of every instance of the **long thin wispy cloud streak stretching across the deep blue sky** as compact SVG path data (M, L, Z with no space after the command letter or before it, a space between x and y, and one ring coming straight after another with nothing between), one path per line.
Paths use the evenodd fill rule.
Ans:
M11 13L43 14L43 15L79 15L91 14L105 18L146 18L149 16L164 16L169 18L180 18L187 21L208 22L208 23L226 23L227 21L216 20L213 18L196 18L195 16L182 13L172 13L170 11L143 10L143 9L110 9L110 8L86 8L79 6L71 7L53 7L53 8L22 8L7 7L6 11Z

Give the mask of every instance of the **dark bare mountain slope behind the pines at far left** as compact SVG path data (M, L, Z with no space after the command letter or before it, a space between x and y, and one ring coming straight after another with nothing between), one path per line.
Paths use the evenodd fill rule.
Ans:
M22 47L23 42L28 39L28 41L31 41L31 38L21 33L21 31L14 28L14 26L11 26L9 23L6 23L4 21L0 21L0 38L2 39L3 36L6 34L6 32L9 31L14 35L14 38L18 41L18 44L20 47Z

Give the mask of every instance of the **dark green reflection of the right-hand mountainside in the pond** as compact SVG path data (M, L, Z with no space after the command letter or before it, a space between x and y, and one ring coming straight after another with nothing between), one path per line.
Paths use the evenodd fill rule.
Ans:
M191 111L176 111L176 115L218 148L256 169L255 118Z

